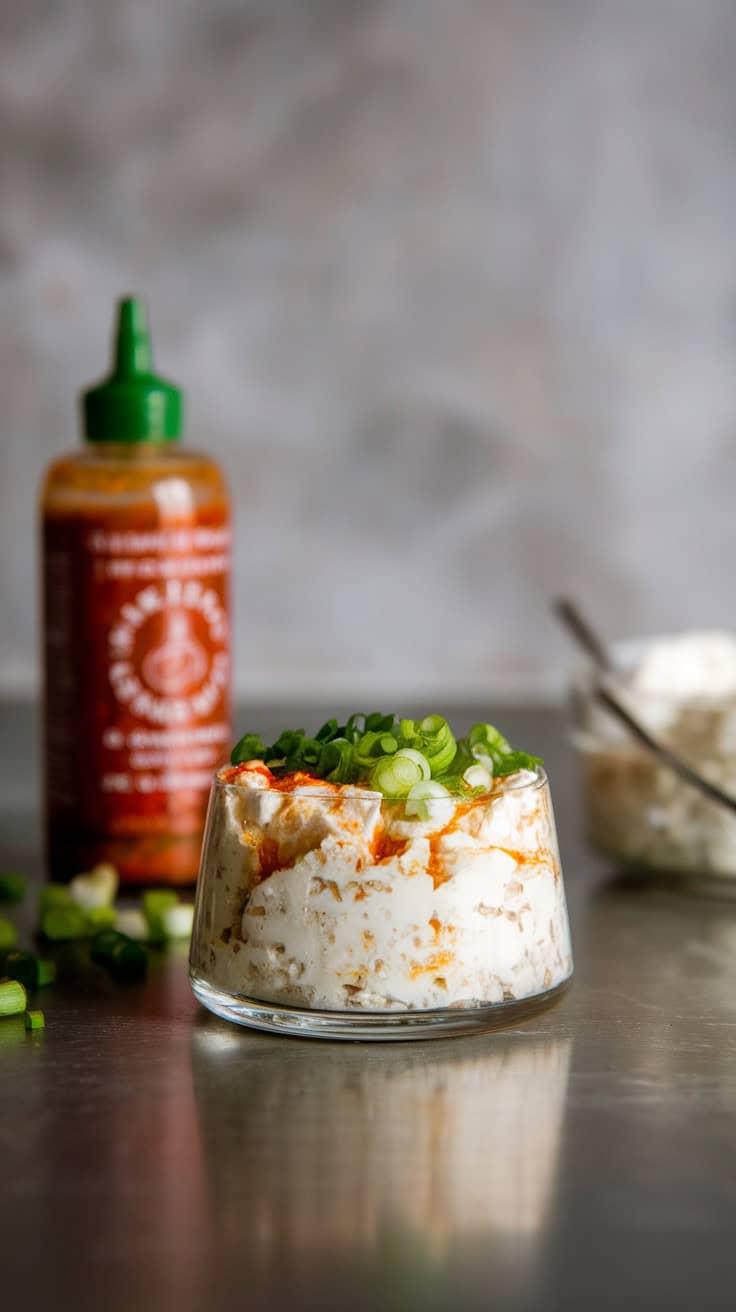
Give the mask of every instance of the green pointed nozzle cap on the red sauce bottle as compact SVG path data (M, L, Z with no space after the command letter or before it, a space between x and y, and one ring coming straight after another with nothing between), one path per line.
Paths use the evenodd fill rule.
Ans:
M83 392L81 401L88 442L164 442L180 436L184 398L153 373L146 308L136 297L118 300L113 371Z

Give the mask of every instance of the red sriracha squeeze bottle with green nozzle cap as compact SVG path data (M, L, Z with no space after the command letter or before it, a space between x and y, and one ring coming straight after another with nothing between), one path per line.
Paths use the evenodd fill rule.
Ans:
M83 394L84 446L42 493L49 870L127 883L197 875L230 723L230 505L180 450L180 390L152 371L140 300L113 371Z

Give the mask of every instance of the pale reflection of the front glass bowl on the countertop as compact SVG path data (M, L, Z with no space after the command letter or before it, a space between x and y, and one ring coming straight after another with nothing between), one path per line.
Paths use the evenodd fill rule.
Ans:
M227 1248L370 1256L413 1236L534 1240L554 1193L569 1039L509 1033L417 1048L193 1031L214 1223Z

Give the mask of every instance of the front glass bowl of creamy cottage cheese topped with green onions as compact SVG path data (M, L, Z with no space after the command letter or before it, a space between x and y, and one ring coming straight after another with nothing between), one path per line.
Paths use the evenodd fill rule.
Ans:
M319 736L274 757L283 735L247 735L215 775L195 996L256 1029L346 1039L471 1031L555 998L572 953L542 765L491 726L470 743L440 716L357 719L329 722L321 761Z

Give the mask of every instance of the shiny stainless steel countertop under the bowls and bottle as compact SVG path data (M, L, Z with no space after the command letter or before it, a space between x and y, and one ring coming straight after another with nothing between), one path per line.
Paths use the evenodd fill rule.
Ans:
M0 1022L3 1309L733 1307L736 903L617 878L562 719L499 719L551 775L567 996L340 1044L206 1015L184 954L123 988L62 953L46 1031ZM35 728L0 735L0 867L38 874Z

